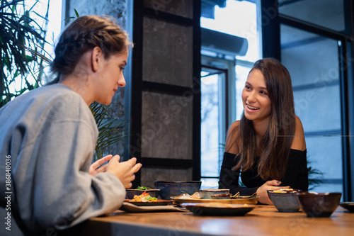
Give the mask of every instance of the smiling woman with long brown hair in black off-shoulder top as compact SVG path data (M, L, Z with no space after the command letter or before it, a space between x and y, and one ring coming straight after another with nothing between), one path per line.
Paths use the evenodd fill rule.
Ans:
M290 74L280 62L258 60L242 91L244 114L229 128L219 188L241 195L308 189L306 144L295 116ZM239 176L245 187L239 186Z

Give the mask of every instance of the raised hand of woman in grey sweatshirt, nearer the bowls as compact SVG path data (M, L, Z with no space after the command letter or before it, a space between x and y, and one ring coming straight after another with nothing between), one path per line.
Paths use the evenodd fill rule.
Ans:
M115 155L108 162L107 172L117 176L122 182L125 189L132 187L132 181L135 179L135 173L139 171L142 164L137 163L137 159L133 157L126 162L119 162L120 156Z

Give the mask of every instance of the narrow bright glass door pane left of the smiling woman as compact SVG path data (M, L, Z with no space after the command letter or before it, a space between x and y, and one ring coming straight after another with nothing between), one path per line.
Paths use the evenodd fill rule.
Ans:
M225 119L222 99L224 74L202 74L205 73L207 75L201 79L201 175L217 177L222 158L220 144L224 140L223 129L220 128Z

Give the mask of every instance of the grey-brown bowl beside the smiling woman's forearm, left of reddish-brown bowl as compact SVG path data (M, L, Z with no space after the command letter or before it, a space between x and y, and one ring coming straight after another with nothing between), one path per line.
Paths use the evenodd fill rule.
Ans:
M294 189L292 192L277 193L273 190L268 190L268 196L275 208L280 212L297 212L300 209L297 202L296 193L301 192L299 189Z

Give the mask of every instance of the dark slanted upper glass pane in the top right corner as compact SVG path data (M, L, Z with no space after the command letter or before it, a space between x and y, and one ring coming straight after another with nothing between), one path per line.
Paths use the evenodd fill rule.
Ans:
M279 13L332 30L346 30L343 0L279 0Z

